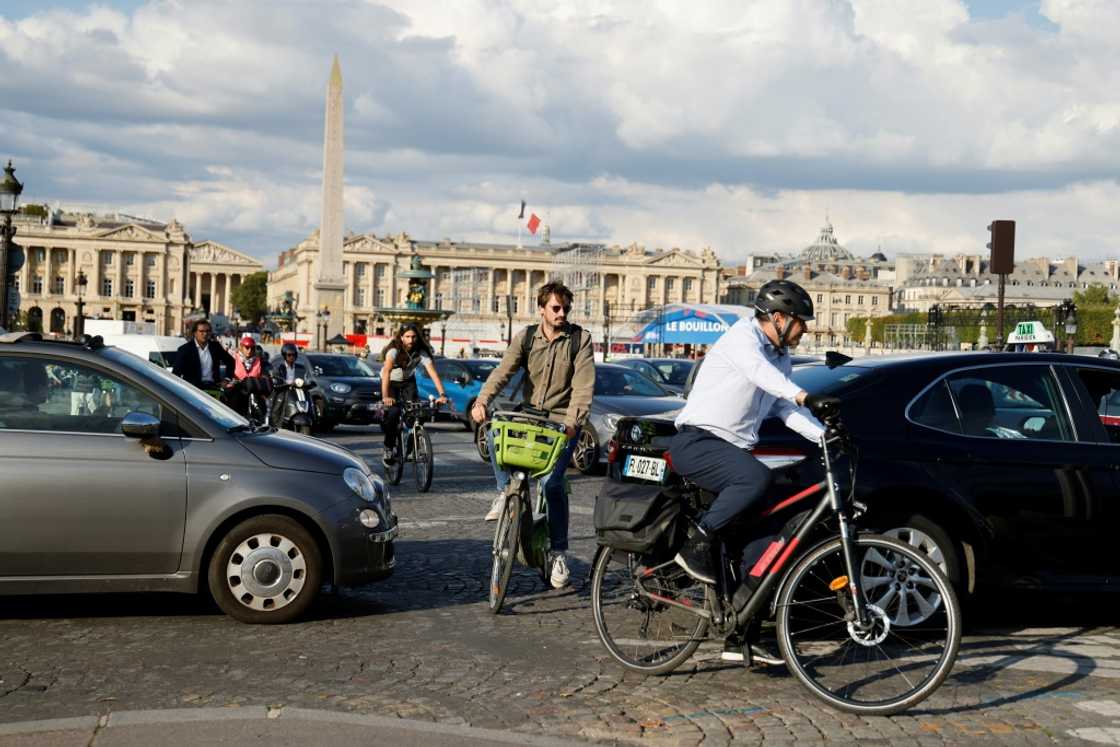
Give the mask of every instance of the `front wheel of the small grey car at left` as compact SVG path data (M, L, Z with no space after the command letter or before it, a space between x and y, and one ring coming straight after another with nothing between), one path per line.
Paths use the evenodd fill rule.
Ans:
M319 547L298 522L264 514L222 538L207 578L214 601L242 623L290 623L307 611L323 583Z

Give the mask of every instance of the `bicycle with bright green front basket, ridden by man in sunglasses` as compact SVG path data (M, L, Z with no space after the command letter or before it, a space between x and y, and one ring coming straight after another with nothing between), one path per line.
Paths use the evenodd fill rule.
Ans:
M535 568L548 583L548 502L543 486L539 486L533 506L530 482L552 471L568 437L562 423L525 412L495 412L489 429L498 467L512 468L505 503L494 529L489 609L496 615L505 601L514 560ZM568 489L567 478L564 489Z

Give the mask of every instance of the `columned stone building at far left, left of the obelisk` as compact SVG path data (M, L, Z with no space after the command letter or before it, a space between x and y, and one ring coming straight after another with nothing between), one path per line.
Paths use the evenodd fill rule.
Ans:
M44 332L73 334L81 292L86 318L148 321L178 335L194 308L228 314L232 289L264 269L216 242L194 244L174 220L40 208L13 222L26 255L13 284L19 310Z

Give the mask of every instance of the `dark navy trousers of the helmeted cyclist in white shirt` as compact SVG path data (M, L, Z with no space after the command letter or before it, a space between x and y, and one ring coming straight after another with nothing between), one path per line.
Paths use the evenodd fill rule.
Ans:
M700 525L719 531L740 514L760 508L771 470L753 454L700 428L682 427L669 446L673 469L717 493Z

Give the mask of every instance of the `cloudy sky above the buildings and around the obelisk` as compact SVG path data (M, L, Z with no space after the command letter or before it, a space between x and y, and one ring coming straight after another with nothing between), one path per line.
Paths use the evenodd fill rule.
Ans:
M24 202L179 220L274 267L348 231L858 255L1116 256L1117 0L4 0ZM526 213L526 217L528 214ZM536 241L523 234L523 241Z

